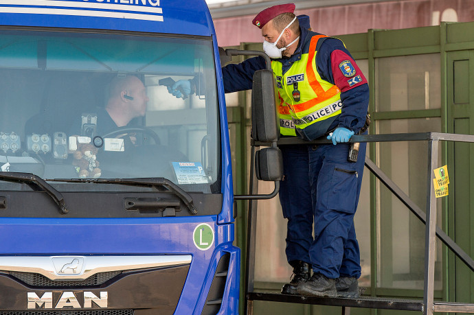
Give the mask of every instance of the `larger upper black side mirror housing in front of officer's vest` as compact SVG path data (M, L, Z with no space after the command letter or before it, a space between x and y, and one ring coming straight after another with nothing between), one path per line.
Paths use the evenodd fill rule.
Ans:
M276 104L273 72L267 69L255 71L252 87L253 140L275 142L280 139Z

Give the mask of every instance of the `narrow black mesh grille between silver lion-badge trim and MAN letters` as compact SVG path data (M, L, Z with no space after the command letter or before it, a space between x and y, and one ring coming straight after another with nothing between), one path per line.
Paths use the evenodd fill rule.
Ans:
M47 277L43 275L40 275L38 273L30 273L30 272L11 271L10 275L12 277L15 277L16 279L19 279L20 281L23 281L27 285L32 285L34 287L60 288L60 287L71 287L71 286L75 286L75 287L84 286L85 287L85 286L101 285L102 283L109 281L110 279L112 279L113 277L117 275L120 275L121 273L122 271L99 272L99 273L96 273L95 275L92 275L91 277L87 279L80 280L80 281L60 281L60 280L52 281L51 279L48 279Z

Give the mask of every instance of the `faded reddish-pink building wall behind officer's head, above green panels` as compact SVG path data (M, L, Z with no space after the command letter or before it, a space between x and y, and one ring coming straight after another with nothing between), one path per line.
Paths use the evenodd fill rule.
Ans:
M251 24L257 13L215 19L219 45L225 47L262 41L260 30ZM308 15L315 32L354 34L370 29L396 30L439 25L440 21L474 21L474 0L401 0L304 10L298 10L296 3L295 14Z

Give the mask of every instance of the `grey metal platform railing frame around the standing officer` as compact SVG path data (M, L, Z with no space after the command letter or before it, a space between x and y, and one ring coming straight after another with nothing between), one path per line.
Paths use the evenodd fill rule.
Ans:
M458 141L474 143L473 135L454 135L438 132L403 133L391 135L360 135L352 136L350 142L393 142L393 141L427 141L428 145L428 167L427 167L427 206L423 211L398 187L390 178L385 175L379 167L370 159L365 157L365 166L372 172L381 183L383 183L405 206L413 212L418 219L426 224L425 229L425 285L422 301L401 300L401 299L381 299L361 296L359 299L342 298L308 298L303 296L290 296L285 294L272 294L253 291L254 269L255 269L255 247L256 247L256 219L257 202L249 200L249 212L247 222L247 256L246 256L246 279L245 279L245 313L253 314L253 301L275 301L286 303L304 303L315 305L341 306L342 314L345 314L345 307L363 307L391 310L420 311L425 315L432 315L433 312L460 312L474 313L472 303L454 303L434 301L434 279L435 279L435 246L436 236L458 256L466 266L474 271L474 261L467 253L456 244L440 227L436 226L436 196L433 189L433 170L438 167L438 147L440 141ZM316 141L303 141L295 138L284 138L278 141L278 145L290 144L329 144L330 140L321 139ZM252 143L256 148L267 145L266 143ZM253 156L251 157L253 163ZM251 176L251 194L258 193L258 182L256 177Z

